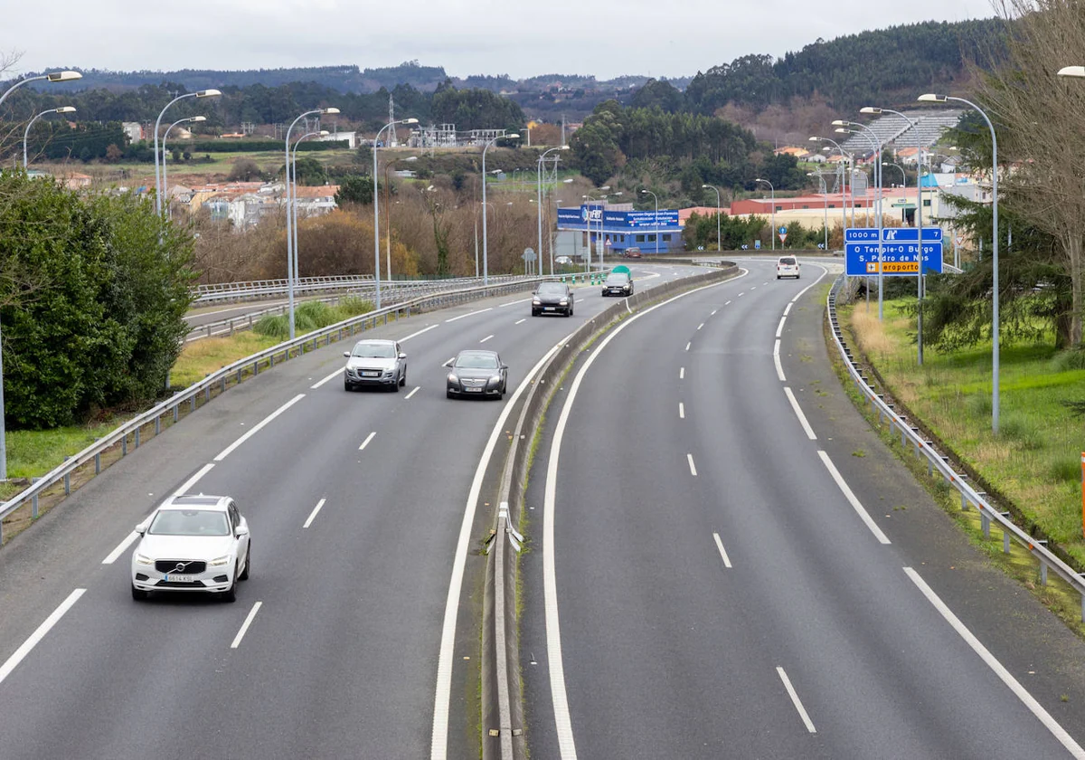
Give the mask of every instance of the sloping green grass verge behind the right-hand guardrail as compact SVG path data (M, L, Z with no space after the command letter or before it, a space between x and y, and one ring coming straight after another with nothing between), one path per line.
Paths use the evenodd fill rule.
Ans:
M1050 344L1004 344L996 434L991 345L955 353L924 346L920 366L915 324L903 316L903 303L885 302L881 324L865 309L847 309L890 392L1085 566L1080 469L1085 420L1065 405L1085 401L1085 369L1076 354L1059 354Z

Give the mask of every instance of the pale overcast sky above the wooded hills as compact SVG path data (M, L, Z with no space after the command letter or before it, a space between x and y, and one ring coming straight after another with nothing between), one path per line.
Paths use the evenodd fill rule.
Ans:
M227 0L5 3L14 72L279 68L418 60L451 76L687 76L818 37L994 15L990 0Z

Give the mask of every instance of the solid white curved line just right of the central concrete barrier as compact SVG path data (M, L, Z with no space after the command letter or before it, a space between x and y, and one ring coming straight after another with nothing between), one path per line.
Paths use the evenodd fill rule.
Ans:
M584 382L584 376L587 373L588 369L591 368L592 363L599 357L603 349L605 349L607 345L614 340L615 335L622 332L622 330L640 319L646 314L650 314L661 306L665 306L666 304L677 301L678 299L691 295L692 293L697 293L706 288L714 288L717 284L722 283L714 282L709 286L702 286L700 288L688 290L685 293L679 293L671 299L667 299L666 301L655 304L654 306L649 306L642 312L637 312L624 322L611 330L611 332L599 344L599 347L597 347L595 352L592 352L592 354L584 362L584 365L576 373L576 378L574 378L573 384L570 388L569 395L565 397L565 404L562 406L561 414L558 416L558 425L554 426L553 439L550 442L550 456L547 461L546 489L544 492L542 591L546 609L547 659L550 668L550 704L553 707L554 727L558 734L558 749L559 758L561 760L576 760L576 743L573 738L573 723L569 712L569 694L565 689L565 666L561 654L561 620L558 615L558 581L554 560L553 518L554 503L557 502L558 493L558 465L561 459L561 442L565 435L565 427L569 425L569 418L573 410L573 403L576 401L576 394L579 391L580 383ZM499 423L502 420L498 420ZM448 717L446 714L446 731L447 720ZM436 718L434 719L434 723L436 723ZM444 760L444 743L442 743L442 753L439 758L436 753L434 753L432 760Z

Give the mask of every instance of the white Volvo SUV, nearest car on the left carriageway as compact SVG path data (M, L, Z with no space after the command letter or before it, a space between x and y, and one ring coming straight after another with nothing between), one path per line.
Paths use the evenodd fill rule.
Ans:
M252 566L248 522L229 496L171 496L136 525L132 598L151 592L207 592L238 598Z

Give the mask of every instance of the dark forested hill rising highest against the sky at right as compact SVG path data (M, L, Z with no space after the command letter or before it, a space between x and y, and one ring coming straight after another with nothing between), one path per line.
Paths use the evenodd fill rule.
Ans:
M819 39L777 60L746 55L698 73L684 106L704 114L728 103L761 111L795 97L820 97L846 111L875 101L910 104L922 92L959 89L968 79L968 60L983 67L1000 60L1004 33L998 18L926 22Z

